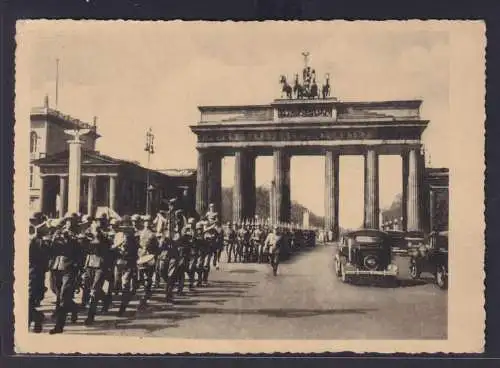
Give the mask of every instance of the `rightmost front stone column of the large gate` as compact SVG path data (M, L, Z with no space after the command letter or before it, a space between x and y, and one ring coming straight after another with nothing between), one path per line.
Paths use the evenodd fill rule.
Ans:
M408 231L420 231L419 149L411 149L408 157Z

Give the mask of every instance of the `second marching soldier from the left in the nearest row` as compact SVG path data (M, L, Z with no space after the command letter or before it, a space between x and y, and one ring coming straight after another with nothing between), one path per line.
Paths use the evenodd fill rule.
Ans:
M52 260L50 271L53 275L56 293L55 326L50 334L62 333L66 324L66 316L72 312L72 320L76 320L76 305L73 301L76 276L80 263L80 249L76 241L75 220L67 219L62 230L54 233L51 244Z

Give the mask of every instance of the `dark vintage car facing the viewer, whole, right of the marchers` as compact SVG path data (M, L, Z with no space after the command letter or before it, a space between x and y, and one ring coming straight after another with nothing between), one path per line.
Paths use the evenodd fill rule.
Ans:
M343 282L359 275L389 277L397 282L398 267L392 263L388 234L371 229L344 234L335 254L335 272Z

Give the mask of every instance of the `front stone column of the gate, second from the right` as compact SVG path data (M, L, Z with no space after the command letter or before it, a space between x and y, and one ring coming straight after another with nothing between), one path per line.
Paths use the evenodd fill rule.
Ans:
M378 155L369 148L365 153L365 228L379 228L379 212Z

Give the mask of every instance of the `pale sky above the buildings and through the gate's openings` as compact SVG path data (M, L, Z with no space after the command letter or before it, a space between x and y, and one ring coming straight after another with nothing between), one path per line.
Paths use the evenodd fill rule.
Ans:
M422 99L427 161L448 167L449 34L425 22L124 22L30 21L18 36L26 52L30 101L49 95L57 109L84 121L97 116L97 149L146 165L145 133L155 134L152 168L195 168L196 137L189 125L199 105L268 104L280 97L279 76L303 67L320 80L330 73L341 101ZM27 120L28 123L28 120ZM324 213L324 159L294 157L292 199ZM233 183L234 160L223 162L223 185ZM257 160L257 185L268 184L272 159ZM401 160L380 159L380 205L401 191ZM340 224L363 218L363 159L340 160Z

